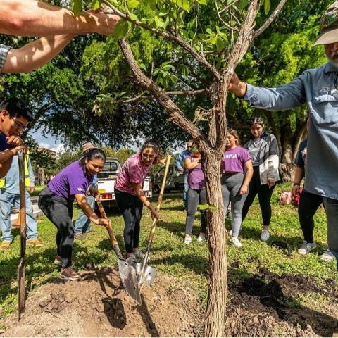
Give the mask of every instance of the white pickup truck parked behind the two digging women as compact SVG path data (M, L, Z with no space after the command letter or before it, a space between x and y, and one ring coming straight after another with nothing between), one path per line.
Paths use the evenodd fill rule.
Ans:
M107 157L104 169L101 173L97 174L97 186L100 192L100 200L102 204L108 208L116 205L114 185L120 170L121 164L118 158ZM152 196L150 175L144 180L143 191L147 197Z

